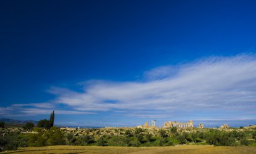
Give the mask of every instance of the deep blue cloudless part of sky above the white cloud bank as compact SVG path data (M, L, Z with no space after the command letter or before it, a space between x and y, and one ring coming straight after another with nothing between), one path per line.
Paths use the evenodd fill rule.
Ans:
M0 1L0 22L3 108L51 102L52 86L140 81L156 67L256 49L255 1Z

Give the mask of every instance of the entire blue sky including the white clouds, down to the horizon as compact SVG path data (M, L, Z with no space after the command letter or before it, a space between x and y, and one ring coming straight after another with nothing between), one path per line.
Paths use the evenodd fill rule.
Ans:
M1 1L0 118L256 124L255 1Z

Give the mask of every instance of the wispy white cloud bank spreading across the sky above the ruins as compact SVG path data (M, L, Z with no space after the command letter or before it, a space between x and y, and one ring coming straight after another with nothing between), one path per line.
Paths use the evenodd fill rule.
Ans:
M141 81L90 80L79 85L82 91L51 87L48 92L56 96L51 103L13 104L9 108L19 107L26 114L44 114L49 113L49 108L63 104L70 109L59 113L110 111L141 118L193 113L202 116L206 112L223 118L255 118L256 114L256 56L253 54L213 56L183 65L157 67L146 71ZM44 110L37 112L38 108Z

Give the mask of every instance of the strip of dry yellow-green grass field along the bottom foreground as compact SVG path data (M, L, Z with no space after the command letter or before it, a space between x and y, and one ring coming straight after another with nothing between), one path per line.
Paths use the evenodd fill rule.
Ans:
M256 153L256 147L214 147L212 145L178 145L174 147L98 147L49 146L27 147L4 153Z

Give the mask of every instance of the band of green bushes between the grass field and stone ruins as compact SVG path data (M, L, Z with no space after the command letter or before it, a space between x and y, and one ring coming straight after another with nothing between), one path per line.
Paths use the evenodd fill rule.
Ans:
M94 129L96 134L78 136L74 133L63 133L55 126L49 130L34 128L36 134L8 134L0 138L0 151L15 150L18 147L42 147L49 145L99 145L123 147L170 146L183 144L199 145L256 145L256 130L238 132L233 130L210 130L207 132L178 132L177 128L160 129L153 136L148 130L135 128L125 130L122 135L100 135L100 129ZM119 131L119 130L117 130Z

